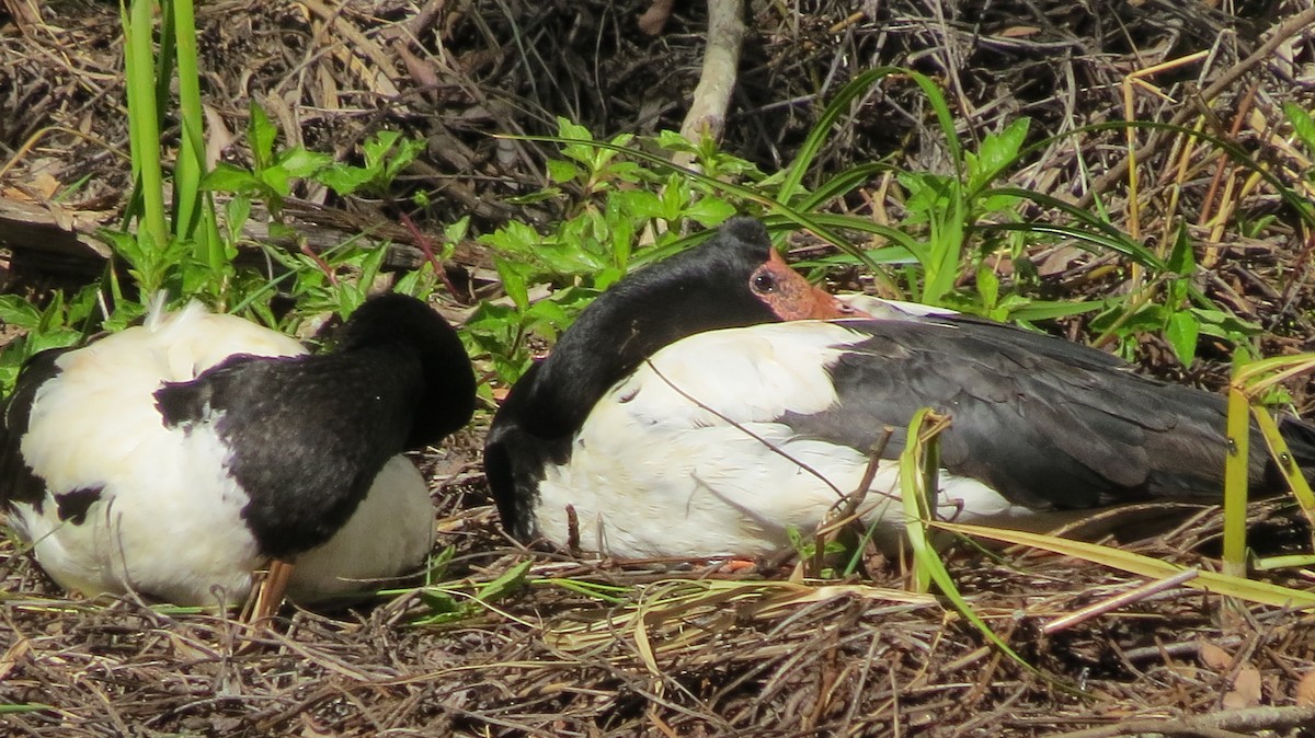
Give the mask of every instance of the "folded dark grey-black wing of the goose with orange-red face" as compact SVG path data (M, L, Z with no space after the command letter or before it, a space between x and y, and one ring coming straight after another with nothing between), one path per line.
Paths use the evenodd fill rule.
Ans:
M846 322L865 337L830 366L838 402L786 422L871 448L932 407L952 418L944 466L1035 508L1085 508L1156 496L1220 495L1226 403L1132 373L1116 357L980 320ZM1253 432L1252 477L1265 481Z

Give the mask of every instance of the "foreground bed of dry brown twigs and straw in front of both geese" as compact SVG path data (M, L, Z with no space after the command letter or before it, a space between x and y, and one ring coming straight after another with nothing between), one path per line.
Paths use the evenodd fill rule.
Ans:
M778 579L790 567L764 578L510 549L484 494L477 479L446 492L454 555L434 586L359 611L285 611L270 629L62 599L5 549L13 734L1118 735L1122 721L1310 709L1308 613L1174 590L1047 636L1055 613L1136 578L1026 552L952 555L972 605L1034 672L894 570L803 584ZM1182 540L1134 548L1201 562ZM451 592L471 601L513 570L514 584L450 615Z

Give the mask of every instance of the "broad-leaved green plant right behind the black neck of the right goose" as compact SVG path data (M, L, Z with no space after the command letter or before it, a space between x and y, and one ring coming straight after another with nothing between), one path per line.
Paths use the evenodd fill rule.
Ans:
M559 119L558 127L562 159L547 163L551 181L522 200L567 200L565 217L548 232L510 222L480 238L493 251L506 301L481 305L467 331L476 352L509 382L529 366L533 336L556 340L585 305L633 265L689 243L680 235L686 223L714 226L736 211L706 180L663 171L651 160L636 162L626 148L634 137L596 142L569 121ZM706 171L756 173L752 164L677 134L664 134L655 143L696 156ZM636 242L646 238L651 246L636 252ZM531 298L531 290L544 284L559 289Z

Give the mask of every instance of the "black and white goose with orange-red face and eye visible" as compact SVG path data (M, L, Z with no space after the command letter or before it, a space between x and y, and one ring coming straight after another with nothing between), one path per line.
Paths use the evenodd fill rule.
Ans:
M935 311L846 318L734 219L602 294L494 418L485 465L512 534L617 557L757 555L853 491L886 425L952 418L938 498L959 520L1222 496L1224 402L1060 339ZM800 318L831 318L803 319ZM1304 467L1315 427L1282 423ZM1258 436L1252 481L1281 488ZM861 510L902 527L897 465ZM572 541L575 542L575 541Z

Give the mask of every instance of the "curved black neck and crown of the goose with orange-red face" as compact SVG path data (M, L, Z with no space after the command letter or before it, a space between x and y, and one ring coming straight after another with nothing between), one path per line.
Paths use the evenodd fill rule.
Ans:
M517 385L508 397L513 414L535 436L573 435L609 387L664 345L778 320L750 290L771 250L757 221L735 218L711 240L627 276L585 309L534 376Z

